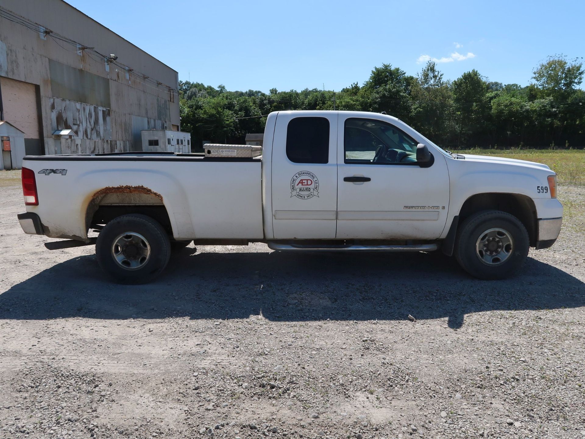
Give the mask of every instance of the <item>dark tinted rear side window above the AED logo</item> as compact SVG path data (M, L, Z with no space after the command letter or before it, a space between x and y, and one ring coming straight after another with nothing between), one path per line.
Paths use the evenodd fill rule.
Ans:
M287 157L293 163L328 163L329 120L301 117L288 122Z

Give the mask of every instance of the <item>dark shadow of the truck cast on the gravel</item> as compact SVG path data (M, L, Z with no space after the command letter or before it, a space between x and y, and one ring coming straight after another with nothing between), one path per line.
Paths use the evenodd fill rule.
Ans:
M109 282L95 256L53 266L0 294L2 319L247 318L406 320L488 310L585 306L585 284L528 258L517 277L481 281L440 253L197 253L171 258L156 282Z

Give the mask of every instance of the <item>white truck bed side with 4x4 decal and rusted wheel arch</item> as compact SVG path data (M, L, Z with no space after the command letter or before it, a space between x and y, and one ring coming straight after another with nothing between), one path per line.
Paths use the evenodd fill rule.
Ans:
M39 205L27 211L39 215L53 238L87 239L84 225L95 207L90 204L96 198L101 205L115 204L116 198L104 195L125 188L154 194L147 204L164 205L174 239L264 236L261 157L172 152L25 156L23 167L35 172L39 193Z

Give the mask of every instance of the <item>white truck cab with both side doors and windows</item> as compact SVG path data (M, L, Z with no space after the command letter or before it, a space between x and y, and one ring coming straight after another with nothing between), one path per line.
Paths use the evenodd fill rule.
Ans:
M449 212L446 153L425 147L428 156L419 152L417 160L422 139L407 125L345 111L280 112L274 119L271 157L264 147L272 188L271 218L265 211L264 221L275 239L442 235Z

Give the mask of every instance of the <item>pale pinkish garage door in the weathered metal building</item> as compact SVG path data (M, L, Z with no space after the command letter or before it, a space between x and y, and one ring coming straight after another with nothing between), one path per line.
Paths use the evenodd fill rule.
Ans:
M25 139L39 138L35 84L0 78L4 119L25 133Z

